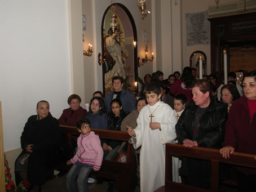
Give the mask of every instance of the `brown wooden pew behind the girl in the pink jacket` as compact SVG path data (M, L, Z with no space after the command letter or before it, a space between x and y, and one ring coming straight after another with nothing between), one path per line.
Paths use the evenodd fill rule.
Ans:
M109 130L96 130L96 135L99 135L100 139L113 139L128 141L130 136L127 132L123 131L109 131ZM80 133L76 127L60 126L60 133L67 135L67 142L69 146L72 144L73 139L77 139ZM132 189L132 177L135 166L135 156L132 146L127 145L127 163L120 163L112 160L103 160L99 171L92 171L91 175L98 176L101 178L107 178L116 182L117 191L133 191ZM68 171L71 166L59 164L58 168L61 170Z

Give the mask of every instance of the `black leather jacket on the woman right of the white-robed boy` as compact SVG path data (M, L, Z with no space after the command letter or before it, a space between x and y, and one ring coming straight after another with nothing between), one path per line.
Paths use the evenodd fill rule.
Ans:
M196 108L194 101L189 102L175 126L179 143L185 139L192 140ZM202 115L198 123L198 146L221 147L227 117L227 105L215 97L212 98L208 111Z

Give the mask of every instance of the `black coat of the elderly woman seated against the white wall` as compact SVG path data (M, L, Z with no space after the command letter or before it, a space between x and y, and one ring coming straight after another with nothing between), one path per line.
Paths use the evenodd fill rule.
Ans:
M38 120L38 115L32 115L25 124L20 137L23 151L19 155L27 153L25 148L33 144L28 161L28 181L32 185L42 185L46 177L54 171L54 151L59 139L59 122L49 113L47 117ZM19 158L18 157L18 158ZM16 181L19 180L16 176Z

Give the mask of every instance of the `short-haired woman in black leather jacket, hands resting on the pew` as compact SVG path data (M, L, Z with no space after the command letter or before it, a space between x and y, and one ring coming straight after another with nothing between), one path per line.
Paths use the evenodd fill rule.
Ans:
M179 143L186 147L220 148L224 139L227 105L211 97L209 81L197 80L192 86L193 101L186 105L175 130ZM180 175L187 185L209 188L210 163L192 158L182 159Z

